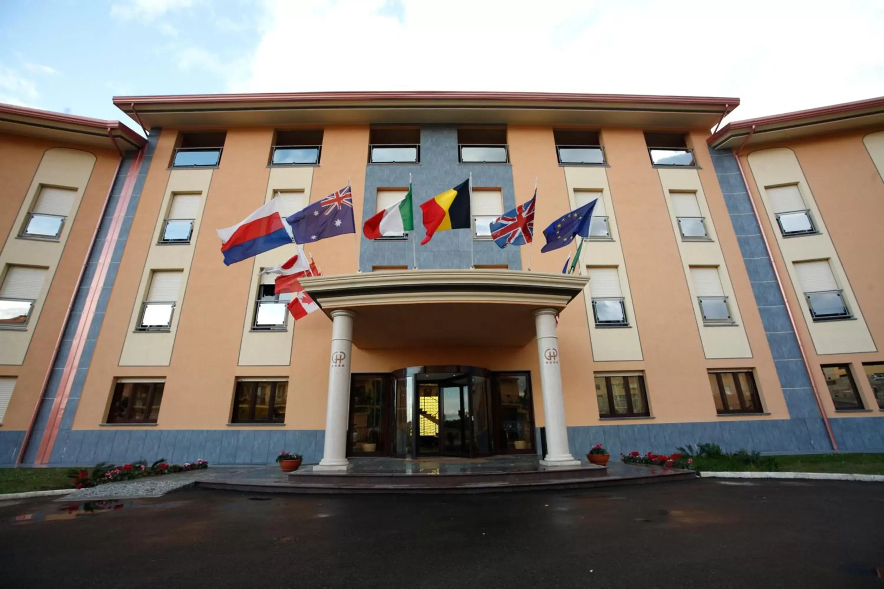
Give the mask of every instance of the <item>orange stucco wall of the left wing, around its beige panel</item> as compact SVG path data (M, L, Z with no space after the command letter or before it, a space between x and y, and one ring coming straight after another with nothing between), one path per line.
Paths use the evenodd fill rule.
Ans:
M13 227L43 154L53 147L78 149L95 155L95 167L72 220L65 249L52 278L50 291L34 327L34 336L20 366L0 366L0 376L16 376L16 386L4 416L4 430L27 429L50 368L68 305L86 261L89 245L117 170L119 155L112 149L84 147L58 141L0 134L0 234L4 241L19 230ZM71 223L69 220L68 223ZM3 243L0 242L0 243Z

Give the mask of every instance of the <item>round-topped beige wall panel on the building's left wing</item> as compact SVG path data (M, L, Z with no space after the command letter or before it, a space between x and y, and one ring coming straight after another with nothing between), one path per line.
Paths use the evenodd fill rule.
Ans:
M31 337L34 336L34 328L37 321L40 320L43 304L50 291L58 261L61 260L62 253L65 251L68 234L71 232L77 210L80 208L80 200L86 191L89 176L94 167L95 155L86 151L54 147L43 154L40 165L27 189L25 199L19 205L18 215L12 223L3 252L0 253L0 273L5 273L4 268L11 264L39 266L49 268L49 270L46 273L40 297L34 303L27 328L22 330L0 329L0 364L20 365L25 361L28 345L31 343ZM24 227L27 213L34 204L34 199L40 192L41 186L58 186L77 191L58 241L18 237L19 230Z

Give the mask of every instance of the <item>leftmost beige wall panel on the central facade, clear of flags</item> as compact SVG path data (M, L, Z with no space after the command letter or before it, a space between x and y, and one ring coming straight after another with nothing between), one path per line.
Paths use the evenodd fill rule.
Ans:
M187 276L190 274L190 262L194 257L196 236L199 235L202 211L206 206L209 187L214 170L171 170L169 183L166 185L163 202L160 205L148 259L141 273L138 295L133 301L132 314L129 319L129 333L123 351L119 357L120 366L168 366L178 322L184 310L184 294L187 291ZM174 193L200 193L200 207L194 220L194 230L189 244L161 244L160 236L165 225L165 216L171 205ZM150 284L150 275L154 270L183 270L181 287L175 310L172 313L171 327L168 332L135 331L141 314L141 302Z

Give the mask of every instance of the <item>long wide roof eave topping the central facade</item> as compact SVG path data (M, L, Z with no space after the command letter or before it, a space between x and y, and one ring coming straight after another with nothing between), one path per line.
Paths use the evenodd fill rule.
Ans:
M703 128L736 98L627 94L341 92L118 96L146 127L246 125L523 124Z

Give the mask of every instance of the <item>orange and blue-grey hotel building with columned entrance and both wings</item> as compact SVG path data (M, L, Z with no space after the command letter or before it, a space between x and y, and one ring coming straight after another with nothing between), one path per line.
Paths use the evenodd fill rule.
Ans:
M281 449L537 454L717 442L884 449L884 99L724 125L735 98L118 97L0 107L0 464ZM307 245L295 323L216 230L351 185L357 229L472 178L471 230ZM488 223L530 200L533 247ZM541 231L598 199L575 247Z

